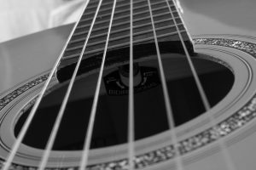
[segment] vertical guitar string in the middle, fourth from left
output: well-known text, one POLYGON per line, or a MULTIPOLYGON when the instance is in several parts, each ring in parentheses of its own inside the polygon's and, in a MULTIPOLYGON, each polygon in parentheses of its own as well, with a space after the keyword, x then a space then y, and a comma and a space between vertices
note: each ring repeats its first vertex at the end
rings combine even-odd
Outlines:
POLYGON ((130 72, 129 72, 129 118, 128 118, 128 157, 130 170, 134 169, 133 158, 135 156, 134 148, 134 88, 133 88, 133 0, 131 0, 130 16, 130 72))

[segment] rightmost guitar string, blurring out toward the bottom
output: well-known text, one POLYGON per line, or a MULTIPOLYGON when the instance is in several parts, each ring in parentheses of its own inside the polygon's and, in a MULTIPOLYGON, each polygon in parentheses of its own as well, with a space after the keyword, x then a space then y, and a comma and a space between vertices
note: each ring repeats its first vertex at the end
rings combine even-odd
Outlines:
MULTIPOLYGON (((175 2, 175 0, 172 0, 172 2, 173 2, 173 4, 174 4, 175 8, 177 8, 177 3, 175 2)), ((193 62, 192 62, 192 60, 191 60, 191 57, 190 57, 189 52, 188 52, 188 49, 187 49, 187 47, 186 47, 186 45, 185 45, 185 43, 184 43, 183 37, 182 37, 182 35, 181 35, 181 32, 180 32, 180 30, 179 30, 179 28, 178 28, 178 26, 177 26, 177 22, 176 22, 176 20, 174 19, 174 14, 173 14, 171 5, 170 5, 170 3, 168 3, 167 0, 166 0, 166 3, 167 3, 167 6, 168 6, 168 8, 169 8, 169 11, 170 11, 170 13, 171 13, 171 15, 172 15, 172 19, 173 19, 174 25, 176 26, 178 36, 179 36, 179 38, 180 38, 180 40, 181 40, 181 42, 182 42, 183 50, 184 50, 184 52, 185 52, 185 54, 186 54, 186 57, 187 57, 187 59, 188 59, 188 61, 189 61, 189 66, 190 66, 190 69, 192 70, 193 77, 195 78, 195 82, 196 82, 197 88, 199 89, 199 91, 200 91, 200 93, 201 93, 201 98, 204 100, 204 105, 205 105, 206 110, 209 111, 209 110, 210 110, 210 105, 209 105, 209 102, 208 102, 208 99, 207 99, 207 95, 205 94, 204 89, 203 89, 203 87, 201 86, 200 79, 199 79, 199 77, 198 77, 198 75, 197 75, 197 73, 196 73, 196 71, 195 71, 195 65, 193 64, 193 62)), ((181 14, 179 13, 178 10, 177 10, 177 13, 178 13, 179 17, 182 19, 181 14)), ((182 20, 182 21, 183 21, 183 20, 182 20)), ((186 28, 185 28, 185 29, 186 29, 186 28)), ((187 29, 186 29, 186 30, 187 30, 187 29)), ((213 117, 212 115, 209 115, 208 117, 209 117, 209 119, 210 119, 211 125, 212 125, 212 126, 215 126, 215 124, 217 124, 217 122, 214 120, 214 117, 213 117)), ((226 147, 225 147, 224 140, 223 140, 223 139, 219 139, 218 142, 219 142, 219 145, 220 145, 220 149, 222 150, 222 152, 223 152, 223 154, 224 154, 224 159, 225 159, 226 162, 227 162, 226 165, 227 165, 228 169, 230 169, 230 170, 236 170, 235 165, 234 165, 234 162, 231 160, 230 154, 229 154, 228 150, 227 150, 226 147)))

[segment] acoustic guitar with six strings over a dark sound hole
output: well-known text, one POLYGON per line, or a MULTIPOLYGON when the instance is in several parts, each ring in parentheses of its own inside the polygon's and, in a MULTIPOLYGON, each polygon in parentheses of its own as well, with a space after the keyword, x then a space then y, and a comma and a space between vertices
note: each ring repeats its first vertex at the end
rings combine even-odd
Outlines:
POLYGON ((90 0, 0 44, 1 168, 255 169, 256 39, 191 36, 181 12, 90 0))

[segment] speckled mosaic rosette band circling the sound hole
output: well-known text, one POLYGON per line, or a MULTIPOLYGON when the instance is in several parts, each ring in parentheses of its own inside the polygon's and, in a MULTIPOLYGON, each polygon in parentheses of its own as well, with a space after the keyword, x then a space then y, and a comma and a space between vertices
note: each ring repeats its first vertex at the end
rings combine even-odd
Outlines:
MULTIPOLYGON (((256 44, 253 42, 226 38, 196 38, 194 39, 194 42, 195 45, 204 44, 209 46, 235 48, 256 58, 256 44)), ((33 88, 38 84, 44 82, 47 77, 48 74, 42 77, 38 77, 32 82, 28 82, 20 88, 17 88, 13 92, 4 96, 2 99, 0 99, 0 111, 3 110, 5 106, 9 105, 9 103, 17 98, 20 94, 23 94, 30 88, 33 88)), ((177 155, 186 155, 193 150, 197 150, 203 146, 206 146, 207 144, 211 144, 212 142, 217 141, 218 139, 222 139, 230 133, 235 132, 237 129, 245 126, 248 122, 251 122, 256 116, 255 111, 256 95, 254 94, 253 98, 249 99, 246 105, 241 107, 239 111, 236 111, 234 114, 224 119, 222 122, 218 122, 218 124, 216 124, 215 126, 207 128, 203 132, 197 133, 194 136, 189 137, 188 139, 183 139, 179 141, 176 144, 179 153, 176 152, 173 144, 170 144, 158 150, 152 150, 148 153, 137 155, 134 159, 135 167, 148 167, 156 163, 171 160, 177 155)), ((3 165, 3 160, 0 161, 0 164, 3 165)), ((117 161, 104 162, 96 165, 90 165, 88 169, 127 169, 127 164, 127 159, 122 159, 117 161)), ((10 168, 36 169, 36 167, 20 166, 15 163, 12 164, 12 167, 10 168)), ((63 167, 61 169, 67 168, 78 169, 79 167, 63 167)), ((58 167, 58 169, 60 169, 60 167, 58 167)))

